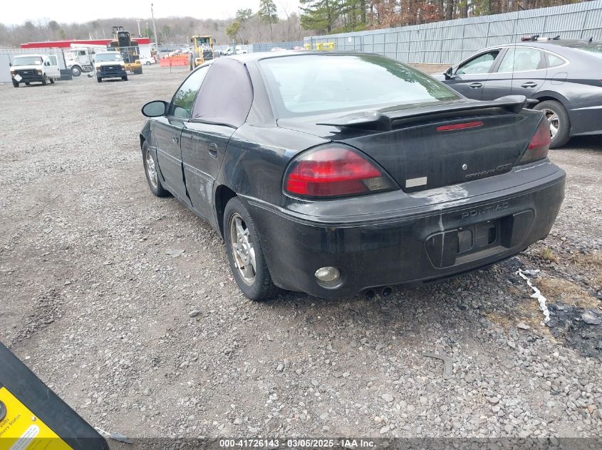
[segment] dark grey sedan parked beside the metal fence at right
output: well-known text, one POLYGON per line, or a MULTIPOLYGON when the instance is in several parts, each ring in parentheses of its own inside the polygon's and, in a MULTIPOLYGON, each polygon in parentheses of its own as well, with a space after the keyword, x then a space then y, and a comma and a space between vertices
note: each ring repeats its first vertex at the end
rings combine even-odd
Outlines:
POLYGON ((466 97, 525 95, 550 122, 551 148, 571 136, 602 134, 602 43, 524 41, 481 50, 432 75, 466 97))

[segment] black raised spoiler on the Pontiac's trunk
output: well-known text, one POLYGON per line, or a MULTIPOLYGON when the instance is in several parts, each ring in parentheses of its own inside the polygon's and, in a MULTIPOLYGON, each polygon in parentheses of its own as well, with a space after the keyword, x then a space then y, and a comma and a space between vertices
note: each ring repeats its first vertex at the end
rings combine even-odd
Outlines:
POLYGON ((343 117, 329 119, 326 122, 320 122, 316 125, 331 125, 341 128, 350 127, 359 129, 373 129, 378 131, 390 131, 393 129, 393 122, 400 119, 484 108, 502 108, 508 112, 514 112, 514 114, 517 114, 524 107, 534 105, 534 103, 537 103, 537 100, 527 99, 524 95, 506 95, 505 97, 499 97, 496 100, 490 100, 488 102, 467 100, 457 103, 445 103, 442 105, 431 105, 391 112, 356 112, 343 117))

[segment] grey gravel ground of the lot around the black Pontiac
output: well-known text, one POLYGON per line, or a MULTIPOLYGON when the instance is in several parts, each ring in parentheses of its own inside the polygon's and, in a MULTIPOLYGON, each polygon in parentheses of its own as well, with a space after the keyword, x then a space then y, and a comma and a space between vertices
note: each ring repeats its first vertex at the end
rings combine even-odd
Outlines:
POLYGON ((600 436, 601 138, 551 151, 566 200, 518 257, 390 299, 254 303, 217 233, 152 196, 142 172, 140 106, 184 75, 0 86, 0 340, 90 424, 132 437, 600 436), (541 270, 547 326, 519 267, 541 270), (449 379, 425 352, 450 358, 449 379))

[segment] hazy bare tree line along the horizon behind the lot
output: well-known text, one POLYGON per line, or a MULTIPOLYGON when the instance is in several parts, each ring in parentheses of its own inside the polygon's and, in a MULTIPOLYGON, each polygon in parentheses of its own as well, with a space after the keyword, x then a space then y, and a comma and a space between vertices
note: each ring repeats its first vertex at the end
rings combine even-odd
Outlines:
POLYGON ((299 11, 260 0, 259 9, 239 9, 225 20, 192 17, 110 18, 85 23, 56 20, 0 23, 0 47, 33 41, 111 38, 112 26, 122 25, 132 36, 159 43, 185 44, 194 35, 212 35, 218 44, 301 41, 303 36, 416 25, 453 18, 484 16, 521 9, 577 3, 579 0, 299 0, 299 11), (139 33, 140 30, 140 33, 139 33))

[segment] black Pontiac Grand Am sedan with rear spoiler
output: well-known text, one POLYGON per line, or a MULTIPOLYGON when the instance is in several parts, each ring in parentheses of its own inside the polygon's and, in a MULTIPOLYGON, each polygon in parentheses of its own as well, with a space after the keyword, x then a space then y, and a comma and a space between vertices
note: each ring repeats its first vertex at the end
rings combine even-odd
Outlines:
POLYGON ((222 235, 251 299, 388 296, 548 234, 565 174, 522 96, 468 100, 380 55, 218 58, 140 132, 152 193, 222 235))

